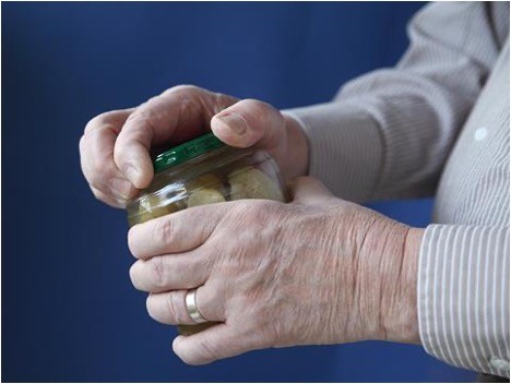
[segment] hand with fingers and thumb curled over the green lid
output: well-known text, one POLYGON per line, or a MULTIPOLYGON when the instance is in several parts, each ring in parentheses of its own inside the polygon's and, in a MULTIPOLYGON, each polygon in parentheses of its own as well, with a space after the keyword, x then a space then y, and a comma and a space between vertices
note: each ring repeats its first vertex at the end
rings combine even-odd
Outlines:
POLYGON ((210 129, 231 146, 266 149, 285 178, 307 171, 307 141, 293 119, 262 101, 183 85, 138 108, 92 119, 80 141, 83 173, 97 199, 123 207, 151 183, 152 148, 189 141, 210 129))

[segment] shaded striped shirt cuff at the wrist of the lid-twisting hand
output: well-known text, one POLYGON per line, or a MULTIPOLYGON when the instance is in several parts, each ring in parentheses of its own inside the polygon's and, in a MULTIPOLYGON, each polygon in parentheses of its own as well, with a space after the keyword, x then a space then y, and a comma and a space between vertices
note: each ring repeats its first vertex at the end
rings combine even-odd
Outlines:
POLYGON ((383 145, 372 118, 353 104, 329 103, 283 111, 309 142, 309 175, 337 196, 371 199, 381 175, 383 145))

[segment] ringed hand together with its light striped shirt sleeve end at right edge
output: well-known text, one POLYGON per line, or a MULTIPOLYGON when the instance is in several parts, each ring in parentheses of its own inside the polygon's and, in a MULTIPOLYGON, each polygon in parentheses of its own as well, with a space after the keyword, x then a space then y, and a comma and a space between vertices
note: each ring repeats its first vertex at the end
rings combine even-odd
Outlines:
POLYGON ((309 178, 292 193, 289 204, 212 204, 131 228, 130 274, 152 292, 151 316, 193 324, 183 296, 200 287, 200 312, 223 322, 175 339, 181 359, 382 339, 508 374, 492 365, 509 358, 507 227, 409 228, 309 178))

